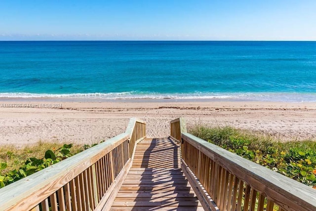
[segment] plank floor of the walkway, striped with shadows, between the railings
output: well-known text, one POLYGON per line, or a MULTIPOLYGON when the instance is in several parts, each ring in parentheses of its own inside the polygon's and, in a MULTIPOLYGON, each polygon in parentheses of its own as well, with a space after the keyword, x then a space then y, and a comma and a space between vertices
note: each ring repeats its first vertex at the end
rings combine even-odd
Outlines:
POLYGON ((171 138, 144 139, 136 146, 112 211, 202 211, 180 168, 180 146, 171 138))

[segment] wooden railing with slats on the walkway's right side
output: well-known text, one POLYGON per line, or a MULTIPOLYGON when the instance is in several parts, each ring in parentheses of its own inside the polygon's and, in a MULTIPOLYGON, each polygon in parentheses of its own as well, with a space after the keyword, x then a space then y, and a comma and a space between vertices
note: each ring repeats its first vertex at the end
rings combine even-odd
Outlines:
MULTIPOLYGON (((174 124, 173 121, 171 123, 174 124)), ((199 139, 172 124, 171 135, 176 134, 179 138, 181 133, 181 139, 178 139, 182 142, 181 168, 196 189, 204 209, 316 211, 316 190, 313 188, 199 139), (179 131, 174 131, 176 129, 179 131)))

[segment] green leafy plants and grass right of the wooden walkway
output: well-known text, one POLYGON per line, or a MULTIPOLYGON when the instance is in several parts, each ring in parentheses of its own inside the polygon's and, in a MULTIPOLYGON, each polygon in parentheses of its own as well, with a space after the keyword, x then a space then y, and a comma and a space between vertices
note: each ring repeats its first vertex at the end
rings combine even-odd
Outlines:
POLYGON ((234 127, 197 126, 190 133, 316 188, 316 141, 279 142, 234 127))

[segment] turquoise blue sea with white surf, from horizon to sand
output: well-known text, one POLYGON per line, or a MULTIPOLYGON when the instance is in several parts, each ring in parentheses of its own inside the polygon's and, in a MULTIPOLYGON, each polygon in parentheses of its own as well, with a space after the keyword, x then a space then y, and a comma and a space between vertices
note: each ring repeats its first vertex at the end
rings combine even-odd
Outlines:
POLYGON ((0 97, 316 102, 316 42, 0 42, 0 97))

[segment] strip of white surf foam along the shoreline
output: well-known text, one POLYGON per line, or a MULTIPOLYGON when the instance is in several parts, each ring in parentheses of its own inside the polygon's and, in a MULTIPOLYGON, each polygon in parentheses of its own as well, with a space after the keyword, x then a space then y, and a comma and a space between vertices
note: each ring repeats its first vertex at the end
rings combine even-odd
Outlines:
POLYGON ((0 98, 70 98, 70 99, 226 99, 276 102, 316 102, 316 93, 149 93, 149 92, 110 92, 110 93, 69 93, 39 94, 27 92, 0 93, 0 98))

